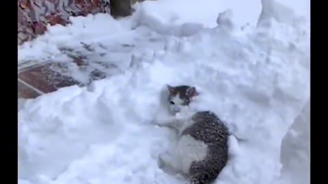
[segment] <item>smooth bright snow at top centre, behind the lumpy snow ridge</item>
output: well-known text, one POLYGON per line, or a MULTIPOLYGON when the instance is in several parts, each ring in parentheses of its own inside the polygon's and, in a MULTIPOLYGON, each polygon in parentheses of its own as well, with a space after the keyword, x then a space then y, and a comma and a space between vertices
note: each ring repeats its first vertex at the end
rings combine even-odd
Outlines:
POLYGON ((239 27, 246 23, 255 26, 262 7, 260 0, 161 0, 146 1, 143 6, 150 16, 158 18, 161 22, 174 25, 196 22, 202 23, 205 27, 216 27, 217 14, 228 9, 234 10, 235 23, 239 27), (245 10, 248 10, 246 16, 245 10))

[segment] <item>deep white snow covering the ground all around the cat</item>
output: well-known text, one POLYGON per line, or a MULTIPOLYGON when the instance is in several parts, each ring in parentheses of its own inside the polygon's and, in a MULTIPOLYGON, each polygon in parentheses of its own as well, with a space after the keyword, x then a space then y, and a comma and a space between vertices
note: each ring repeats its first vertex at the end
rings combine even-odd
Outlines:
POLYGON ((165 84, 195 85, 197 107, 247 139, 232 144, 215 183, 295 183, 304 172, 292 171, 295 153, 282 140, 293 122, 310 123, 299 117, 310 97, 310 28, 263 1, 262 13, 260 1, 145 1, 131 17, 72 18, 18 47, 20 61, 68 61, 59 48, 102 44, 104 62, 124 71, 20 103, 19 183, 184 183, 156 164, 173 138, 150 124, 165 84))

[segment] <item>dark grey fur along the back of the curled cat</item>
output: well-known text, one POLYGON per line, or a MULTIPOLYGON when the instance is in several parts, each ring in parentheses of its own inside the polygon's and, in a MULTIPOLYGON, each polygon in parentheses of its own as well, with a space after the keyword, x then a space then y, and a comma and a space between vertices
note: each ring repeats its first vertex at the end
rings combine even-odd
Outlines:
POLYGON ((189 165, 191 183, 214 181, 228 161, 228 127, 210 111, 196 112, 191 117, 193 123, 184 129, 183 136, 191 136, 206 145, 206 156, 194 160, 189 165))

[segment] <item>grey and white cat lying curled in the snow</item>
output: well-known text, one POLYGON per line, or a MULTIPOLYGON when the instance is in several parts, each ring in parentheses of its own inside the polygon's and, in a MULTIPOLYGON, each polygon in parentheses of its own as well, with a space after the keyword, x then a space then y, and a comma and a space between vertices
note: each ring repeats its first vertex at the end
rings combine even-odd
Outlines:
POLYGON ((178 132, 175 148, 159 155, 159 168, 171 168, 189 177, 191 184, 215 181, 228 161, 228 127, 210 111, 189 109, 199 93, 195 87, 167 85, 170 116, 154 123, 178 132))

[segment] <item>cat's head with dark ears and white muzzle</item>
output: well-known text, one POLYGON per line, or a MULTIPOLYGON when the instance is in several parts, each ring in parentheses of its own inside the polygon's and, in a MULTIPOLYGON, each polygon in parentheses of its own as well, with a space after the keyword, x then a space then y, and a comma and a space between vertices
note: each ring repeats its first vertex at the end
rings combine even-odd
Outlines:
POLYGON ((169 91, 169 111, 177 113, 187 108, 195 96, 199 95, 195 87, 181 85, 172 87, 167 85, 169 91))

